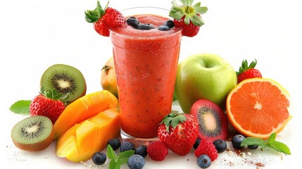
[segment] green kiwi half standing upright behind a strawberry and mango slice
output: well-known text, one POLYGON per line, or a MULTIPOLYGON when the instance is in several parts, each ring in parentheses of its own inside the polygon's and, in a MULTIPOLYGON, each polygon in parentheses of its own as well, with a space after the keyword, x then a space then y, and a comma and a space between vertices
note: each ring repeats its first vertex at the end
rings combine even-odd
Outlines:
POLYGON ((84 76, 80 70, 71 65, 51 65, 44 71, 40 87, 44 87, 45 90, 56 89, 57 92, 63 94, 69 93, 68 98, 64 100, 66 104, 70 104, 86 94, 84 76))

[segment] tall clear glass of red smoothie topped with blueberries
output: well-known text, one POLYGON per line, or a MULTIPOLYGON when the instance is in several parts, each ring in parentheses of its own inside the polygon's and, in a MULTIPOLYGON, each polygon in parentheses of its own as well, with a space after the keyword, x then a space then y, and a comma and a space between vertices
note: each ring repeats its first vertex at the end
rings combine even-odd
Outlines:
POLYGON ((148 143, 156 140, 159 123, 171 112, 182 31, 162 26, 172 20, 169 11, 162 8, 138 7, 121 12, 126 19, 134 19, 130 25, 111 29, 110 35, 121 137, 148 143))

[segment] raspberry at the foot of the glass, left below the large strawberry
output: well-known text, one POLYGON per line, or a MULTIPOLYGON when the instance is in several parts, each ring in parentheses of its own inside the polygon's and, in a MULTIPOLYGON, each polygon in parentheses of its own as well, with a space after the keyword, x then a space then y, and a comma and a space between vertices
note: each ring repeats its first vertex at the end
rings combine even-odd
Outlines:
POLYGON ((168 147, 163 142, 152 142, 147 147, 148 156, 153 161, 163 161, 168 155, 168 147))

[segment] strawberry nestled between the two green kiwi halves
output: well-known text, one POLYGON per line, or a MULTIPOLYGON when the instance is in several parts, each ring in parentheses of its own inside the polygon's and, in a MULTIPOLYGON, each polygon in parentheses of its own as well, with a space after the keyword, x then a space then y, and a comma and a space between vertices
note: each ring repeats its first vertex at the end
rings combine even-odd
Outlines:
POLYGON ((30 115, 44 115, 54 124, 65 109, 62 100, 67 97, 68 94, 58 94, 56 89, 51 91, 42 87, 40 94, 30 102, 30 115))

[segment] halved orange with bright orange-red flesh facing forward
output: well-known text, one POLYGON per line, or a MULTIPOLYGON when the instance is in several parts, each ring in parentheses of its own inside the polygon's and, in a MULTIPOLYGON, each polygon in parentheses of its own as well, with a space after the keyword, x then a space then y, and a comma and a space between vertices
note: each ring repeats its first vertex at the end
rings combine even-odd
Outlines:
POLYGON ((227 118, 246 137, 267 139, 291 119, 289 93, 279 83, 266 78, 247 79, 227 96, 227 118))

